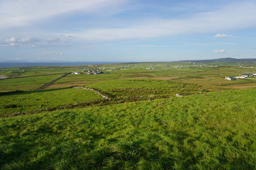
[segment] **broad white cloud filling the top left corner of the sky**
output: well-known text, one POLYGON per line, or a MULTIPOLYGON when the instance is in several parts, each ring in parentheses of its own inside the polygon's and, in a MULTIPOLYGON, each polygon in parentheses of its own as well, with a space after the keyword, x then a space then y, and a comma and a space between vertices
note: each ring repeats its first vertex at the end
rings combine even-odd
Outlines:
POLYGON ((0 29, 19 27, 68 12, 93 12, 119 6, 127 0, 1 0, 0 29))

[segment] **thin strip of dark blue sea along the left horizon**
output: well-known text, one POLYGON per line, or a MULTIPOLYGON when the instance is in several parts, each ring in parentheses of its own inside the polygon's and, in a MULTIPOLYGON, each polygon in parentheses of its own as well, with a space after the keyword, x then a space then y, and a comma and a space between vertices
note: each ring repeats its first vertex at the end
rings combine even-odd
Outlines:
POLYGON ((0 62, 0 68, 6 67, 32 67, 32 66, 82 66, 82 65, 100 65, 115 62, 0 62))

